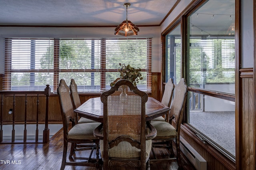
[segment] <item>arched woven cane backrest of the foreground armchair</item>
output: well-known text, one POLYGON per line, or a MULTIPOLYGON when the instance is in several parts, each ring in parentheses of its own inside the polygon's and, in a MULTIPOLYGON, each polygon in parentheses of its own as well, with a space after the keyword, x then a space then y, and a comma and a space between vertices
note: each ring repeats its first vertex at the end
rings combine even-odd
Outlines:
POLYGON ((116 139, 122 137, 132 138, 136 147, 139 146, 141 150, 140 159, 146 160, 145 103, 147 100, 148 95, 138 90, 128 80, 119 80, 110 90, 102 93, 104 162, 108 162, 109 146, 121 142, 122 140, 116 139))

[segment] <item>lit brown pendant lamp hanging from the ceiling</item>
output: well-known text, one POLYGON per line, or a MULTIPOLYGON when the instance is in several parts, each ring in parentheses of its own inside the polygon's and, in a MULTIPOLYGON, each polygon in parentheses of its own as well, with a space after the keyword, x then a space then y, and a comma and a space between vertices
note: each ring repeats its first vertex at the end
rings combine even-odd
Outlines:
POLYGON ((140 29, 136 27, 130 20, 128 20, 127 16, 127 10, 128 7, 131 6, 130 3, 124 3, 124 6, 126 7, 126 20, 122 21, 118 27, 115 29, 115 35, 123 35, 123 36, 129 36, 129 35, 138 35, 138 31, 140 29))

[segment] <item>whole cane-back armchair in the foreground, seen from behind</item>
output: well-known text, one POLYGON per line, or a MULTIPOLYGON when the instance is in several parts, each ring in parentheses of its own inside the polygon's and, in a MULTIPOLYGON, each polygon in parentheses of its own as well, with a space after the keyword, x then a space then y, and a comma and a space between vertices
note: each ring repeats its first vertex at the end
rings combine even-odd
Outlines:
POLYGON ((110 90, 102 93, 103 125, 94 131, 100 140, 100 152, 103 158, 103 168, 111 166, 139 167, 149 166, 148 158, 152 138, 156 129, 147 123, 146 128, 145 103, 148 95, 138 90, 132 82, 119 80, 110 90), (103 126, 103 135, 100 129, 103 126), (102 140, 103 139, 103 140, 102 140))

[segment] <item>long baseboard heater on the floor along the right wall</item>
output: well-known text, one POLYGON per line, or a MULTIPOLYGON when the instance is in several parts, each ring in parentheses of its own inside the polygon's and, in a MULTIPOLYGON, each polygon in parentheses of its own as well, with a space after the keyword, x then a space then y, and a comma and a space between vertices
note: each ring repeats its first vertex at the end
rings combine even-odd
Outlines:
POLYGON ((207 162, 196 150, 191 147, 184 138, 180 137, 180 150, 197 170, 206 170, 207 162))

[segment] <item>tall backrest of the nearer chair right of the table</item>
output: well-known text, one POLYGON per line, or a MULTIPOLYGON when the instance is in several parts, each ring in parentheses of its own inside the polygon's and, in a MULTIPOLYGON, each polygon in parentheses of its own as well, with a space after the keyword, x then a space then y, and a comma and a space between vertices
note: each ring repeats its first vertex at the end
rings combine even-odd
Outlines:
POLYGON ((174 116, 175 118, 177 132, 180 131, 180 124, 186 104, 187 94, 188 86, 186 85, 186 80, 182 78, 180 79, 180 82, 175 86, 174 98, 172 100, 172 106, 170 110, 170 116, 174 116))

